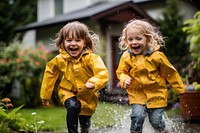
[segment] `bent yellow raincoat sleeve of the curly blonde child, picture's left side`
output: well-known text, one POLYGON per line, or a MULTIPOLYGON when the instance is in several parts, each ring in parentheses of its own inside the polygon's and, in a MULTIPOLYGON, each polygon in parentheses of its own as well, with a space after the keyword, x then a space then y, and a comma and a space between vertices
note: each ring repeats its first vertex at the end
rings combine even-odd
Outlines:
POLYGON ((127 58, 128 58, 127 54, 124 53, 122 55, 121 59, 120 59, 119 66, 118 66, 117 71, 116 71, 117 78, 119 79, 120 86, 122 88, 124 88, 125 79, 127 79, 127 78, 130 79, 131 78, 129 76, 129 69, 130 68, 129 68, 128 64, 126 63, 126 61, 125 61, 127 58))

